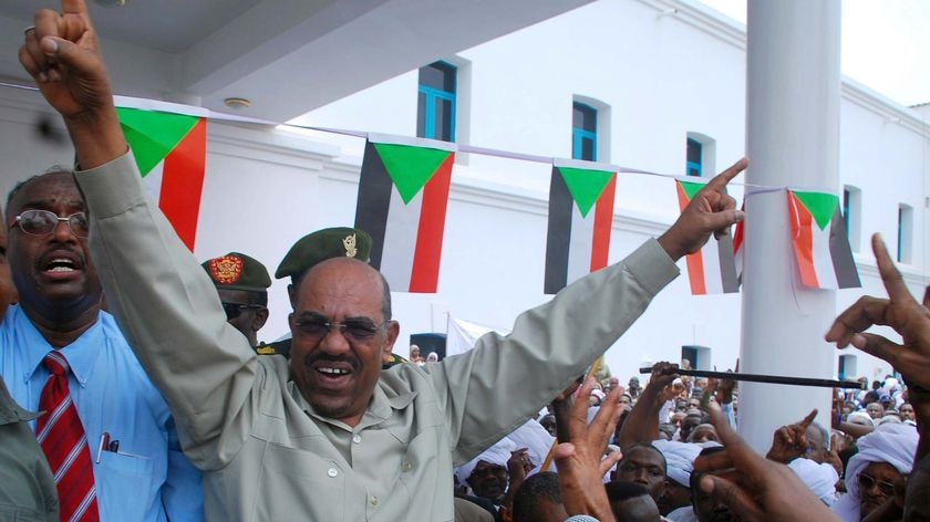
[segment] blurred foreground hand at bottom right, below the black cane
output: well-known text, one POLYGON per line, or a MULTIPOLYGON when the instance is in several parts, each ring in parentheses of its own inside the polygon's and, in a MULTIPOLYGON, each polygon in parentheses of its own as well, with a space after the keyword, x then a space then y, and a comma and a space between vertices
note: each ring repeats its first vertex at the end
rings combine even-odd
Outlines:
POLYGON ((728 505, 740 520, 839 520, 786 466, 756 455, 715 404, 711 405, 711 422, 726 451, 698 458, 694 472, 706 473, 700 480, 701 490, 728 505))

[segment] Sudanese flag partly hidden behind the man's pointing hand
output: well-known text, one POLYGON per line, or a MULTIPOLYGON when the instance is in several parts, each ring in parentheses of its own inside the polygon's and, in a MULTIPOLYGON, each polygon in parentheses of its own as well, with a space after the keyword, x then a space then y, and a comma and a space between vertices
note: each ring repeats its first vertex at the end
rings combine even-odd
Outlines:
MULTIPOLYGON (((675 179, 679 208, 684 211, 691 198, 704 187, 702 182, 675 179)), ((742 234, 741 234, 742 238, 742 234)), ((742 241, 741 241, 742 242, 742 241)), ((720 239, 711 234, 704 247, 685 257, 692 295, 734 293, 740 291, 736 261, 730 234, 720 239)))

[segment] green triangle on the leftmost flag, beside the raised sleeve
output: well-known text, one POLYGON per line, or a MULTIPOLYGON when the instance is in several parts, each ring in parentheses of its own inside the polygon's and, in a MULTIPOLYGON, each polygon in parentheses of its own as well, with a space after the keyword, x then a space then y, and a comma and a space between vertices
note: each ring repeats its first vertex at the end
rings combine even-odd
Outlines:
POLYGON ((116 115, 143 177, 174 150, 200 119, 197 116, 128 107, 116 107, 116 115))

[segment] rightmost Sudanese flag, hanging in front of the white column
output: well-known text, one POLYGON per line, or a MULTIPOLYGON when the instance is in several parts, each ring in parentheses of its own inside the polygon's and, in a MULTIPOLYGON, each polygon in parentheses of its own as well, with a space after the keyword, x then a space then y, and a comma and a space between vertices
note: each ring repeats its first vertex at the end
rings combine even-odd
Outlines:
POLYGON ((802 284, 814 289, 861 286, 839 198, 790 189, 787 195, 792 246, 802 284))

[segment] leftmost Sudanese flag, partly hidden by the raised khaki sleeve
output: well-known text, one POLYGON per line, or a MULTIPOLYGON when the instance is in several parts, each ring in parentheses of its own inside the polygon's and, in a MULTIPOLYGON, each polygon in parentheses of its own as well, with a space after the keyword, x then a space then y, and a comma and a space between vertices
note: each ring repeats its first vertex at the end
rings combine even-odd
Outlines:
MULTIPOLYGON (((117 103, 120 101, 117 98, 117 103)), ((145 103, 145 108, 117 107, 120 125, 143 182, 177 236, 193 252, 204 188, 207 119, 168 112, 176 107, 174 104, 145 103)))

